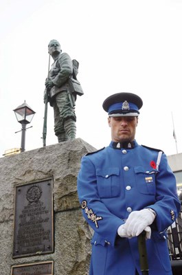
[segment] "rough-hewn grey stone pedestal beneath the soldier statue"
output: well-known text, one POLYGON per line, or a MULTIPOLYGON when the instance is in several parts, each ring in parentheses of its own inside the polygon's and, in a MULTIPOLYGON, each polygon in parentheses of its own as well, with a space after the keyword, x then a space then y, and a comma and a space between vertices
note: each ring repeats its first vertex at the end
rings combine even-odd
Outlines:
POLYGON ((95 151, 80 138, 0 159, 0 270, 54 261, 54 275, 87 275, 91 255, 91 230, 82 217, 77 195, 81 157, 95 151), (54 252, 12 258, 14 233, 14 190, 16 186, 53 181, 54 252))

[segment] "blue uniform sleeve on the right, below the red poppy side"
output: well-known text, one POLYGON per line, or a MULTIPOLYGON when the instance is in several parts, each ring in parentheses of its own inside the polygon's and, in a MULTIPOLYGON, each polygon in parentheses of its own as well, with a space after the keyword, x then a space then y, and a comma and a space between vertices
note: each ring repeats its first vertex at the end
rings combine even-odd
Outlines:
POLYGON ((181 209, 176 179, 165 154, 162 155, 159 173, 156 175, 156 203, 148 208, 157 213, 155 221, 159 232, 166 230, 177 219, 181 209))

